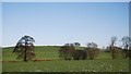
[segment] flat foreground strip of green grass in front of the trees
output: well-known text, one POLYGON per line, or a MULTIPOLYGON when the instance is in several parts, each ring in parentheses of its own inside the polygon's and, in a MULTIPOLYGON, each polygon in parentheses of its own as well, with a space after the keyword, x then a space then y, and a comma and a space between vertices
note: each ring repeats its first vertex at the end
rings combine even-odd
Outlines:
POLYGON ((16 62, 4 63, 3 72, 128 72, 127 63, 127 60, 16 62))

